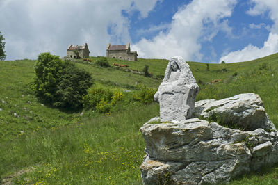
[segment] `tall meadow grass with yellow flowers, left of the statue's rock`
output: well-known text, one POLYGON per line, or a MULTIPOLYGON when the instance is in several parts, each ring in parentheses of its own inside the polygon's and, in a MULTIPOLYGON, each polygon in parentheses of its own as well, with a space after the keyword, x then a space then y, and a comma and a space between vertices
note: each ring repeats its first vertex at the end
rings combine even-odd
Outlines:
POLYGON ((0 176, 25 168, 15 184, 140 184, 145 143, 139 129, 156 115, 152 104, 22 135, 1 145, 0 176))

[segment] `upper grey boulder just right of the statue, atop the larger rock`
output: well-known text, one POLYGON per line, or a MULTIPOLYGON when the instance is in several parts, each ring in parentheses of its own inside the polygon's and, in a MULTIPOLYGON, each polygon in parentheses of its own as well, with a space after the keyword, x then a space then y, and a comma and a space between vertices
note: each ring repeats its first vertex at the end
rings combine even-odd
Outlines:
POLYGON ((254 93, 240 94, 220 100, 201 100, 195 103, 195 116, 197 118, 214 117, 222 124, 236 124, 246 130, 275 129, 268 114, 265 113, 261 97, 254 93))

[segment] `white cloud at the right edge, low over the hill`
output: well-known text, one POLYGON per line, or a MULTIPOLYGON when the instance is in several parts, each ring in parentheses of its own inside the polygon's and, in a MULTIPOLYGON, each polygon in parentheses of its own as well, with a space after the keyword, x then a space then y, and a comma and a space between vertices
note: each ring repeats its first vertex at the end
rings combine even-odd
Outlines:
MULTIPOLYGON (((249 15, 265 15, 265 13, 274 22, 271 29, 266 26, 265 28, 270 30, 268 40, 264 42, 263 47, 259 48, 253 45, 247 45, 247 47, 232 51, 227 55, 223 55, 219 62, 225 61, 227 63, 250 61, 255 58, 261 58, 278 52, 278 1, 277 0, 250 0, 254 7, 247 11, 249 15)), ((251 24, 250 28, 261 28, 265 26, 263 24, 251 24)))

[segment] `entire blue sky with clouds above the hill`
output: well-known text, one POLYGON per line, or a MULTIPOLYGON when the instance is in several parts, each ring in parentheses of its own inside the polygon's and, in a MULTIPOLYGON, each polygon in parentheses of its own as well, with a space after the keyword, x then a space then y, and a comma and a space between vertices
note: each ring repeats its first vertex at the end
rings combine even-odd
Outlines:
POLYGON ((0 0, 0 32, 6 60, 130 42, 138 58, 236 63, 278 52, 278 0, 0 0))

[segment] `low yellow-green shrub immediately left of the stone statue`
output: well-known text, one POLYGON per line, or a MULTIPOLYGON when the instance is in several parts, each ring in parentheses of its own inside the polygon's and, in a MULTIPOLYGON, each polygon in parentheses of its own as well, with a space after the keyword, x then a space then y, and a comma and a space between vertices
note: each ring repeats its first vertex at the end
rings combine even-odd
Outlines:
POLYGON ((133 101, 141 102, 142 104, 149 104, 154 102, 154 94, 156 89, 147 88, 146 86, 139 86, 140 90, 132 96, 133 101))

